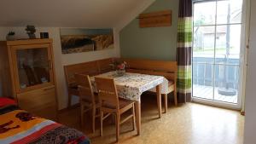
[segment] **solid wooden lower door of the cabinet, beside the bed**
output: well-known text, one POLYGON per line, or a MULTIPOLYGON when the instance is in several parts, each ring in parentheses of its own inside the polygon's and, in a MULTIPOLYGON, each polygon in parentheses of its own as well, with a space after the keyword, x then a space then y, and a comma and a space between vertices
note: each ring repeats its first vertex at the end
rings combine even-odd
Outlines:
POLYGON ((54 86, 18 94, 17 98, 21 109, 39 117, 55 120, 56 102, 54 86))

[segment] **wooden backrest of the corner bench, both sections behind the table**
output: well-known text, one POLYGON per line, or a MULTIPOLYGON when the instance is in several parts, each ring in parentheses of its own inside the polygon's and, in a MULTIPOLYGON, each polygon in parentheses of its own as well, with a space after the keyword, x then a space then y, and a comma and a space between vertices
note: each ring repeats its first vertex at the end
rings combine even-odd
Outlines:
MULTIPOLYGON (((64 66, 67 86, 73 86, 76 83, 75 74, 86 74, 94 76, 104 72, 113 71, 110 66, 115 58, 103 60, 94 60, 79 64, 64 66)), ((177 80, 177 62, 165 60, 141 60, 141 59, 121 59, 127 62, 127 72, 137 72, 143 74, 160 75, 176 83, 177 80)))

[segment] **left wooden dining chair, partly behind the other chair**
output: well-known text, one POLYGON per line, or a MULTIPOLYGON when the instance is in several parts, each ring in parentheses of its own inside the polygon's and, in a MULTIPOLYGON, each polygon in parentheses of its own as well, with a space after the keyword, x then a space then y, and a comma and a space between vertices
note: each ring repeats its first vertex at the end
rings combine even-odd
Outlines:
POLYGON ((79 87, 79 102, 81 112, 81 125, 84 126, 84 112, 92 110, 92 131, 95 133, 95 120, 100 117, 100 112, 96 115, 96 110, 99 110, 100 103, 98 97, 94 94, 90 84, 88 75, 76 74, 76 83, 79 87))

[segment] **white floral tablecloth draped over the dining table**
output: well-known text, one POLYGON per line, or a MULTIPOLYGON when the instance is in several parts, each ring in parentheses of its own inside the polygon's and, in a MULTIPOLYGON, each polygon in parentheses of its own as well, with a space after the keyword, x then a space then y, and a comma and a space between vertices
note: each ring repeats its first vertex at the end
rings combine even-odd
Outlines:
MULTIPOLYGON (((155 91, 155 87, 161 85, 161 93, 166 94, 168 91, 168 80, 162 76, 125 72, 123 76, 118 76, 116 72, 107 72, 99 77, 113 78, 116 84, 119 97, 132 101, 140 101, 144 91, 155 91)), ((96 91, 94 77, 91 77, 91 84, 96 91)))

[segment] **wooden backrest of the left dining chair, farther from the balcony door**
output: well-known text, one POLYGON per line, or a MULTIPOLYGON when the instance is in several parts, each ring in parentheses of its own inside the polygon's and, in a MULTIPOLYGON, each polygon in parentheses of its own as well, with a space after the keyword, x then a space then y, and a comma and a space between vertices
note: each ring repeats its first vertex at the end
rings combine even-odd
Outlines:
POLYGON ((80 101, 91 101, 95 105, 96 97, 93 93, 89 75, 75 74, 75 79, 79 87, 80 101))

